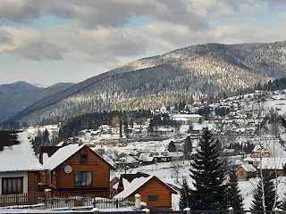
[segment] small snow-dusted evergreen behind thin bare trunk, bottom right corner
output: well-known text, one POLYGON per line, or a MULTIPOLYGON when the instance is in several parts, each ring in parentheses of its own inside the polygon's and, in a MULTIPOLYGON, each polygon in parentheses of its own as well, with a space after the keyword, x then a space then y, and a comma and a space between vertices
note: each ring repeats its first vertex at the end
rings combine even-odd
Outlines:
MULTIPOLYGON (((274 199, 278 199, 278 196, 275 195, 275 186, 273 185, 273 181, 270 180, 270 177, 264 177, 263 183, 265 187, 265 209, 273 210, 274 199)), ((278 202, 277 200, 275 207, 280 206, 281 202, 278 202)), ((263 210, 261 182, 258 183, 257 189, 253 195, 251 210, 263 210)))

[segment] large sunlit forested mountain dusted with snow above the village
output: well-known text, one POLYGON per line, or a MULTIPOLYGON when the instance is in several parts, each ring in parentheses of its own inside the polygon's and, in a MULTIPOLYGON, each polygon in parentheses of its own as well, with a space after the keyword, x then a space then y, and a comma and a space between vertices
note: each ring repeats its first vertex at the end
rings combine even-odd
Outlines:
POLYGON ((91 111, 156 108, 285 77, 286 41, 192 45, 88 78, 47 96, 11 120, 34 124, 91 111))

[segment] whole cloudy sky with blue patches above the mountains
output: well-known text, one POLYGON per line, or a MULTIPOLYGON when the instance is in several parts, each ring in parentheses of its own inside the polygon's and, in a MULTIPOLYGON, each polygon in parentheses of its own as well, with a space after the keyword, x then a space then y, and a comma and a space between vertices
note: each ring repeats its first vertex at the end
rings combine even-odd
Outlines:
POLYGON ((78 83, 189 45, 286 40, 286 0, 0 0, 0 84, 78 83))

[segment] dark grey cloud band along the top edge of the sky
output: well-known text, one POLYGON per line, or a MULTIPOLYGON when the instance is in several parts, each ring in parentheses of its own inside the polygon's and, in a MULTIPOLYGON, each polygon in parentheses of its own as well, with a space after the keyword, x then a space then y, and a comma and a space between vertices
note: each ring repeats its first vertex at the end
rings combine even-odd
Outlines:
POLYGON ((22 0, 20 3, 2 0, 0 21, 25 22, 49 14, 81 28, 118 28, 130 23, 133 18, 148 16, 157 21, 206 29, 206 17, 194 10, 191 3, 186 0, 22 0))

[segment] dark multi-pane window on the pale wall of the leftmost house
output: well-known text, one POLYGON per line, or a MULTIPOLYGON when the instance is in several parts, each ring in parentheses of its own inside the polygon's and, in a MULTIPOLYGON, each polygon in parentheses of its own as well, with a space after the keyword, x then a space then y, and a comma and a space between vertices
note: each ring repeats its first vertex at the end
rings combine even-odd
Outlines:
POLYGON ((23 177, 3 177, 2 193, 23 193, 23 177))

